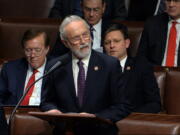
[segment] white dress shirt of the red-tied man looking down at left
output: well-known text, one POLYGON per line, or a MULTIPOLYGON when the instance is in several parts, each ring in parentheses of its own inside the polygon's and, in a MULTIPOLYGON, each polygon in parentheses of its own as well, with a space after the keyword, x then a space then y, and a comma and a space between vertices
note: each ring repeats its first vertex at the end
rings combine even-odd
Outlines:
MULTIPOLYGON (((45 65, 46 65, 46 60, 45 60, 44 64, 40 68, 37 69, 38 72, 35 74, 35 80, 37 80, 38 78, 40 78, 44 75, 45 65)), ((29 65, 28 70, 27 70, 27 75, 26 75, 24 91, 26 89, 26 85, 29 81, 29 78, 31 77, 32 74, 33 74, 33 69, 29 65)), ((33 93, 29 99, 29 105, 33 105, 33 106, 39 106, 40 105, 41 87, 42 87, 42 79, 39 80, 37 83, 35 83, 33 93)))

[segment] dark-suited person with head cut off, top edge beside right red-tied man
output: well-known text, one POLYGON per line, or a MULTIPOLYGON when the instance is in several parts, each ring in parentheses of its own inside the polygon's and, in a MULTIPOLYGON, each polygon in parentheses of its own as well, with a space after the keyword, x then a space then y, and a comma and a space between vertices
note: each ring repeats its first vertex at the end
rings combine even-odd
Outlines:
POLYGON ((127 20, 146 21, 149 17, 164 11, 164 0, 130 0, 127 20))

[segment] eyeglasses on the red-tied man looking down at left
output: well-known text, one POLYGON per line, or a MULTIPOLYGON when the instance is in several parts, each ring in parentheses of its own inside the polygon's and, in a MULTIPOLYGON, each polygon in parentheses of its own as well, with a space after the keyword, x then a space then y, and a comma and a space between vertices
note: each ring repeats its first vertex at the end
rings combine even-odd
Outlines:
POLYGON ((32 53, 34 53, 35 56, 40 56, 43 52, 42 48, 25 48, 24 49, 26 56, 31 56, 32 53))

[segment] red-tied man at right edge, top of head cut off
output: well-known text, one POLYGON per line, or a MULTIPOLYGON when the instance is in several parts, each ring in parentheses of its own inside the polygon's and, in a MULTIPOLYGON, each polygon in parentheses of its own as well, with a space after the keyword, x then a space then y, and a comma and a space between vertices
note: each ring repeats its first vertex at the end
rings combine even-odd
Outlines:
POLYGON ((180 0, 165 0, 166 13, 147 20, 138 55, 154 65, 180 66, 180 0))

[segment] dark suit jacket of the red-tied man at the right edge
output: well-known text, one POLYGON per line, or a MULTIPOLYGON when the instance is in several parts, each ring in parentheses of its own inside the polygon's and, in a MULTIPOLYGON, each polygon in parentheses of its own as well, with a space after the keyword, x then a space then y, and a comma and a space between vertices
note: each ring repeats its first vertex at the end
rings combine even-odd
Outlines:
MULTIPOLYGON (((137 54, 145 56, 153 65, 162 64, 166 49, 168 21, 169 16, 164 13, 150 18, 145 23, 137 54)), ((179 66, 179 51, 177 63, 179 66)))

